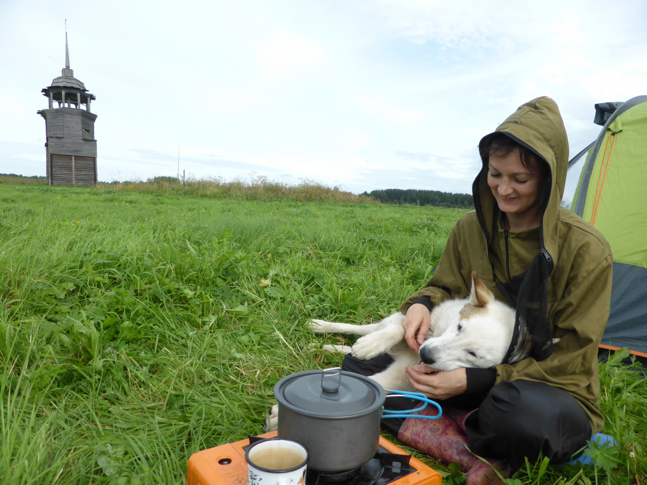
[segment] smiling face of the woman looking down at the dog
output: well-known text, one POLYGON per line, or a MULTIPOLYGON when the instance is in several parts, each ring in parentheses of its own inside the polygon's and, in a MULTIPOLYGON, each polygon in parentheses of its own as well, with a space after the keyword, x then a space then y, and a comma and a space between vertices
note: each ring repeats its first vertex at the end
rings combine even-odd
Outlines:
POLYGON ((501 212, 517 217, 536 212, 542 180, 535 160, 524 167, 516 150, 506 156, 490 155, 487 184, 501 212))

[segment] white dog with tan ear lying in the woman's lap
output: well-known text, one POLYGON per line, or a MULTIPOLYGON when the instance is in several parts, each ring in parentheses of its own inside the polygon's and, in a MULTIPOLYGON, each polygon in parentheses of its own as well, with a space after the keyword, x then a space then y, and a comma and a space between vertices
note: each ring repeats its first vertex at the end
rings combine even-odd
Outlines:
MULTIPOLYGON (((514 308, 494 299, 483 281, 472 272, 472 291, 465 299, 444 301, 430 315, 430 329, 418 353, 404 340, 404 315, 396 312, 370 325, 351 325, 313 319, 307 327, 318 334, 356 334, 363 337, 353 347, 324 345, 333 352, 352 353, 360 360, 387 353, 394 361, 378 374, 370 376, 384 389, 413 391, 404 372, 420 361, 437 371, 452 371, 458 367, 487 368, 505 358, 514 330, 514 308)), ((314 344, 316 345, 316 344, 314 344)), ((268 429, 276 429, 278 406, 266 419, 268 429)))

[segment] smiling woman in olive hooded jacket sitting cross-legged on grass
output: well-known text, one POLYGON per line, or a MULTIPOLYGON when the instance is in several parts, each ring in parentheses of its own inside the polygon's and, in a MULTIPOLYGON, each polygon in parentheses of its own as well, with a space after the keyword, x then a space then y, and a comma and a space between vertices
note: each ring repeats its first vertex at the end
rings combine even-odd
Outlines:
MULTIPOLYGON (((556 103, 543 97, 521 105, 481 140, 479 151, 476 211, 455 224, 432 279, 400 311, 406 341, 418 350, 430 310, 467 296, 474 270, 516 308, 510 349, 491 369, 407 369, 411 385, 440 400, 444 415, 390 426, 400 441, 461 464, 468 485, 496 477, 466 447, 510 473, 540 454, 553 464, 568 462, 602 429, 597 349, 611 296, 608 242, 560 207, 568 142, 556 103), (560 339, 554 346, 553 338, 560 339)), ((388 363, 388 356, 347 356, 344 369, 370 375, 388 363)))

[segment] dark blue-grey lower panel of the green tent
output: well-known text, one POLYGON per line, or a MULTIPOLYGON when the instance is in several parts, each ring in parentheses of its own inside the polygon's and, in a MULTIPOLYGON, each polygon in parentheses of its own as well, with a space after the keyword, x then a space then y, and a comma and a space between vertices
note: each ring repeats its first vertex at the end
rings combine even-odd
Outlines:
POLYGON ((647 268, 613 263, 611 310, 602 343, 647 354, 647 268))

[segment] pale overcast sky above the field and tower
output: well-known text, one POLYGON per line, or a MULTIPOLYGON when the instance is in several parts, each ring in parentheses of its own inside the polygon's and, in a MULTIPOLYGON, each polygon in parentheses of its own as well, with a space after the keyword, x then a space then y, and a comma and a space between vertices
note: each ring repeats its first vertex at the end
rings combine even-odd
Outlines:
POLYGON ((0 0, 0 172, 45 175, 40 93, 96 95, 99 180, 311 178, 469 192, 477 143, 558 103, 571 156, 593 104, 647 94, 647 2, 0 0))

